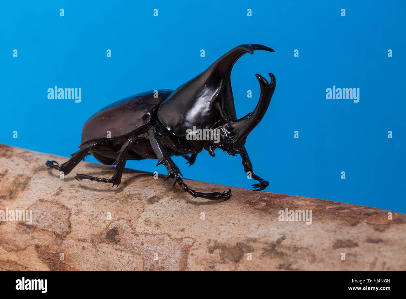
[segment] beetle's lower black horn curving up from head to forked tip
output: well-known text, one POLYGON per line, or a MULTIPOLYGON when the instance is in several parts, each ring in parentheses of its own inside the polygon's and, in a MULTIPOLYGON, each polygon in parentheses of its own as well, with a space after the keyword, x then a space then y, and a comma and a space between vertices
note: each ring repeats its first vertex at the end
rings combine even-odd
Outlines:
POLYGON ((261 87, 261 94, 259 96, 259 101, 255 110, 248 113, 243 118, 240 118, 232 122, 232 131, 235 132, 235 141, 244 141, 248 134, 259 124, 268 109, 269 103, 272 98, 276 86, 276 79, 272 73, 269 73, 271 77, 271 82, 268 83, 266 79, 255 74, 258 79, 259 85, 261 87))

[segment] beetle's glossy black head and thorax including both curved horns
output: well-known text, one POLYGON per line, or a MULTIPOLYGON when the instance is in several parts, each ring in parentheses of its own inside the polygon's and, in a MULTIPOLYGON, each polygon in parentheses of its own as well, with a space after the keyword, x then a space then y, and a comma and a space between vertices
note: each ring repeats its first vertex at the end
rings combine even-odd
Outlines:
MULTIPOLYGON (((274 52, 271 48, 259 44, 243 44, 231 49, 207 70, 179 86, 168 96, 158 108, 158 120, 168 132, 181 138, 193 127, 216 129, 227 124, 228 128, 222 136, 225 137, 224 141, 233 146, 243 144, 244 137, 257 125, 268 108, 274 89, 273 75, 271 83, 257 75, 261 85, 258 107, 250 113, 252 116, 237 120, 231 88, 231 70, 242 55, 253 54, 256 50, 274 52)), ((225 146, 224 142, 220 143, 225 146)), ((219 144, 212 145, 220 147, 219 144)))

